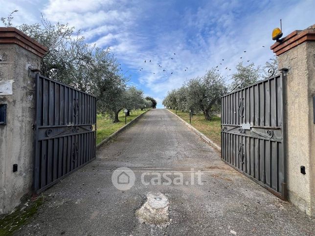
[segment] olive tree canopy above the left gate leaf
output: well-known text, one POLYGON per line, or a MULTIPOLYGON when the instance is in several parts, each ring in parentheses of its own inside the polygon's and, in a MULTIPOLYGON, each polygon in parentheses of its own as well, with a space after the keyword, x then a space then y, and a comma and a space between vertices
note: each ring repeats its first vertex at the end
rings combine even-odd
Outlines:
MULTIPOLYGON (((16 12, 0 19, 4 26, 13 26, 16 12)), ((119 121, 118 113, 123 108, 156 106, 153 98, 144 99, 142 90, 127 86, 129 78, 121 72, 120 64, 109 48, 86 43, 80 30, 76 31, 68 24, 53 24, 43 16, 40 23, 15 27, 48 48, 41 60, 42 75, 95 95, 97 112, 109 115, 113 122, 119 121)))

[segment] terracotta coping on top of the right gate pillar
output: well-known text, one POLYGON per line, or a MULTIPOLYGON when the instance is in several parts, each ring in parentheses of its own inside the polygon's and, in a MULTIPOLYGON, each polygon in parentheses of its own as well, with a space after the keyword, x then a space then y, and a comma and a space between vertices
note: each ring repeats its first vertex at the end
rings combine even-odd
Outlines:
POLYGON ((288 36, 281 39, 281 42, 276 42, 270 46, 270 49, 279 56, 293 47, 306 41, 315 41, 315 24, 305 30, 295 30, 288 36))

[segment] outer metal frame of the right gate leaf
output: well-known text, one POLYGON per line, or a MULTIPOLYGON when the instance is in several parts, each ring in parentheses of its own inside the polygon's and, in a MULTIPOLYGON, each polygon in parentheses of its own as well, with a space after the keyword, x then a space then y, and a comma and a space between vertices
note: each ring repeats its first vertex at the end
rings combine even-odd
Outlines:
MULTIPOLYGON (((264 187, 265 189, 267 189, 270 193, 273 193, 274 195, 276 195, 277 197, 281 198, 282 200, 285 200, 287 201, 288 200, 288 193, 287 193, 287 156, 286 156, 286 143, 285 143, 285 109, 284 109, 284 101, 285 101, 285 87, 283 86, 284 83, 283 83, 283 80, 284 79, 287 79, 287 77, 284 75, 284 71, 287 71, 286 68, 283 68, 283 69, 279 69, 280 71, 280 74, 279 75, 275 75, 273 76, 273 74, 265 79, 265 80, 261 80, 261 81, 258 81, 257 83, 255 84, 252 84, 252 85, 249 85, 249 86, 244 86, 244 83, 242 84, 238 84, 235 88, 233 88, 233 90, 231 90, 229 93, 221 96, 221 160, 223 162, 225 162, 225 164, 229 165, 230 167, 232 167, 233 169, 235 169, 236 171, 244 174, 245 176, 247 176, 249 179, 253 180, 254 182, 256 182, 257 184, 259 184, 260 186, 264 187), (240 90, 243 90, 243 89, 246 89, 246 88, 249 88, 251 86, 255 86, 255 85, 258 85, 258 84, 261 84, 261 83, 264 83, 264 82, 267 82, 271 79, 275 79, 276 77, 280 76, 280 82, 281 82, 281 86, 282 86, 282 94, 281 94, 281 97, 282 97, 282 125, 281 125, 281 129, 282 129, 282 142, 281 142, 281 146, 282 146, 282 149, 283 149, 283 170, 284 170, 284 177, 283 177, 283 182, 281 183, 281 186, 282 186, 282 192, 279 193, 279 192, 276 192, 275 190, 273 190, 271 187, 265 185, 265 184, 262 184, 260 183, 258 180, 256 180, 255 178, 253 178, 252 176, 250 176, 248 173, 238 169, 237 167, 231 165, 230 163, 228 163, 227 161, 225 161, 225 159, 223 158, 223 142, 222 142, 222 133, 223 133, 223 129, 222 129, 222 115, 223 115, 223 103, 222 103, 222 99, 227 96, 227 95, 231 95, 235 92, 238 92, 240 90), (239 88, 239 89, 236 89, 236 88, 239 88), (234 89, 236 89, 234 91, 234 89)), ((265 171, 265 170, 264 170, 265 171)))

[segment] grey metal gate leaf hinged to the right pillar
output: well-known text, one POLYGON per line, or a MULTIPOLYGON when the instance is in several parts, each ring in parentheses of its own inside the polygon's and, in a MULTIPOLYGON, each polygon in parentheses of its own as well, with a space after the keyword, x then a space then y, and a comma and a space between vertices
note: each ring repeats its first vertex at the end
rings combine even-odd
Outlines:
POLYGON ((226 94, 221 100, 221 158, 286 198, 282 75, 226 94))

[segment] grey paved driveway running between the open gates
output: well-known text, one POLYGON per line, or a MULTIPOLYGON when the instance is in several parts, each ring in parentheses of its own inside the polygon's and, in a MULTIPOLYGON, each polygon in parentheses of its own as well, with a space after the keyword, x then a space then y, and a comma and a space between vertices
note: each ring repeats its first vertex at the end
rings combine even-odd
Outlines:
MULTIPOLYGON (((150 176, 149 176, 150 177, 150 176)), ((172 176, 172 180, 174 180, 172 176)), ((247 177, 164 109, 147 112, 97 153, 97 160, 44 193, 46 201, 17 234, 32 235, 308 235, 315 222, 247 177), (112 171, 129 167, 135 185, 112 185, 112 171), (143 185, 144 171, 202 170, 202 184, 143 185), (166 225, 141 223, 135 211, 148 193, 170 203, 166 225)))

